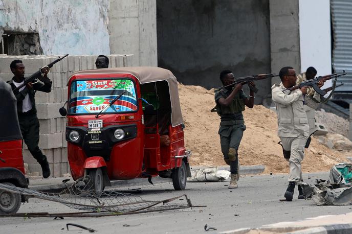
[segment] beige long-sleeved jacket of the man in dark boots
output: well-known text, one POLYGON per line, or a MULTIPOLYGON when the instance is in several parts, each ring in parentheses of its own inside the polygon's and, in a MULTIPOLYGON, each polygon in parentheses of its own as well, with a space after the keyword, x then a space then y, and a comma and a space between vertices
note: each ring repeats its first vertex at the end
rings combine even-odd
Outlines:
MULTIPOLYGON (((309 136, 310 127, 305 112, 305 105, 314 107, 315 102, 303 97, 299 89, 283 91, 286 89, 282 82, 271 87, 272 99, 276 105, 278 118, 278 135, 282 137, 297 137, 298 134, 309 136)), ((314 95, 316 98, 316 95, 314 95)))

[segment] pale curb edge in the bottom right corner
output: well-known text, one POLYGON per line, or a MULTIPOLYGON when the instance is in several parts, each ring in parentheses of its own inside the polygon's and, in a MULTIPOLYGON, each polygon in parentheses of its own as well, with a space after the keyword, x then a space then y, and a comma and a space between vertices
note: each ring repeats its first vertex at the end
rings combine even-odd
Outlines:
MULTIPOLYGON (((276 227, 276 228, 239 228, 230 231, 223 231, 220 234, 246 234, 250 231, 275 232, 287 234, 349 234, 352 233, 352 223, 350 224, 333 224, 317 227, 276 227)), ((255 233, 255 232, 254 232, 255 233)))

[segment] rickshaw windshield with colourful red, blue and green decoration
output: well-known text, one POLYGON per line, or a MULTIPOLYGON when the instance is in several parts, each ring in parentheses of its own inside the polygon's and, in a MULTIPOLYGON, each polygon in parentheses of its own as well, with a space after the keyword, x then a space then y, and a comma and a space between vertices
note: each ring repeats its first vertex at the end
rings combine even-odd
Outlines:
POLYGON ((129 79, 75 80, 71 84, 69 113, 96 114, 122 95, 104 113, 137 111, 135 84, 129 79))

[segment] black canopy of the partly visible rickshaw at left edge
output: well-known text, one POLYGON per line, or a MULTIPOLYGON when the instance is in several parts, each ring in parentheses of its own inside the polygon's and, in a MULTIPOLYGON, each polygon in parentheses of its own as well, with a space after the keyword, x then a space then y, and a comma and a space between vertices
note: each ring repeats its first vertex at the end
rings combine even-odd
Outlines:
POLYGON ((3 100, 0 108, 0 142, 22 139, 18 124, 17 100, 12 92, 11 85, 0 78, 0 100, 3 100))

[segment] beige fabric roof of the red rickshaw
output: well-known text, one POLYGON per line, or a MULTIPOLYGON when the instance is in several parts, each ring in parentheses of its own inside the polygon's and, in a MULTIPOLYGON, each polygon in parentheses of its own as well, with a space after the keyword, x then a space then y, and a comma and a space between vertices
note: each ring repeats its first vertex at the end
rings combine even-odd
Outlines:
MULTIPOLYGON (((179 90, 177 87, 176 77, 167 69, 153 66, 136 66, 136 67, 117 67, 117 68, 103 68, 95 70, 84 70, 74 73, 72 76, 81 74, 131 74, 136 77, 141 84, 167 81, 169 85, 170 99, 171 99, 171 123, 172 126, 178 126, 183 123, 179 90)), ((72 77, 71 76, 71 77, 72 77)), ((70 77, 70 79, 71 79, 70 77)))

